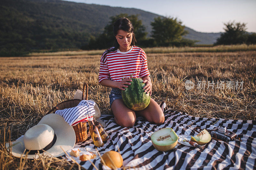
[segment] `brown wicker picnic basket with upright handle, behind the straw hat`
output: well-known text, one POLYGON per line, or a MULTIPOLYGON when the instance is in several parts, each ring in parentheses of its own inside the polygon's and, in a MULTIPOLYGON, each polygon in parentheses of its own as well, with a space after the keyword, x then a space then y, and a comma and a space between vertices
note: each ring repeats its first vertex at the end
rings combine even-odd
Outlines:
MULTIPOLYGON (((82 100, 84 100, 84 89, 86 86, 86 97, 85 100, 88 100, 88 85, 87 83, 84 83, 83 87, 83 95, 82 95, 82 100)), ((53 112, 55 113, 56 110, 62 110, 65 108, 71 108, 71 107, 76 107, 80 101, 80 99, 71 99, 71 100, 65 100, 62 101, 61 103, 57 104, 55 107, 53 107, 47 114, 53 112)), ((73 129, 75 130, 76 133, 76 143, 85 141, 87 139, 87 128, 86 128, 86 122, 80 122, 77 125, 73 126, 73 129)))

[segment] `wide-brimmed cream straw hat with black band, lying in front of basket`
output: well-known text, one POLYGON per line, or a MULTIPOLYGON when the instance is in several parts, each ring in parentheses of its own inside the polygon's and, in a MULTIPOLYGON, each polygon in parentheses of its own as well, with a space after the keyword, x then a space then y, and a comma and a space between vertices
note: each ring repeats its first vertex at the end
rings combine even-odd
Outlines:
MULTIPOLYGON (((15 157, 25 156, 30 150, 28 159, 37 159, 38 152, 45 156, 58 157, 64 155, 64 151, 73 149, 75 143, 76 134, 72 126, 69 126, 62 116, 48 114, 36 126, 28 129, 24 137, 13 141, 11 150, 15 157)), ((8 148, 9 143, 5 146, 8 148)))

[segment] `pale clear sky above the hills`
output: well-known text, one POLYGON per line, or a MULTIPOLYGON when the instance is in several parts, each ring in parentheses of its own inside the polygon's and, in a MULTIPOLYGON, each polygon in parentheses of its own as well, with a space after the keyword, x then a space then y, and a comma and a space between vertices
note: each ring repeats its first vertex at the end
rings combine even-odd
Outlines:
POLYGON ((224 32, 224 23, 247 23, 256 32, 256 0, 68 0, 86 4, 136 8, 165 17, 174 17, 195 31, 224 32))

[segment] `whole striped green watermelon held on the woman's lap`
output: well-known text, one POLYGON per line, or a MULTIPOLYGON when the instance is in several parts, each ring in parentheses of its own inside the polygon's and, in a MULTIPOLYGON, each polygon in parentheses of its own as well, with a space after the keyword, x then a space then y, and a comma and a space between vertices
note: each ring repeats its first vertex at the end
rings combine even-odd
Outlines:
POLYGON ((124 104, 134 111, 145 109, 150 102, 149 93, 144 92, 146 85, 141 78, 131 78, 131 85, 122 90, 124 104))

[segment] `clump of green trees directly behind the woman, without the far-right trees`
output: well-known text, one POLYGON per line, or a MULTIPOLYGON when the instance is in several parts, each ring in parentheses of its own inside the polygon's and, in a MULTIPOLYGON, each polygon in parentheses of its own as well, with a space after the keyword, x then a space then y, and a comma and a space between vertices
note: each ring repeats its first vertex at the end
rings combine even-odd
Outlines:
POLYGON ((110 17, 110 22, 105 26, 103 33, 99 36, 91 36, 89 43, 81 47, 81 49, 107 49, 113 46, 113 24, 121 17, 128 18, 134 27, 134 34, 136 45, 140 47, 169 47, 169 46, 192 46, 197 41, 185 39, 182 36, 188 32, 184 30, 182 22, 177 18, 157 17, 151 22, 152 34, 147 37, 148 33, 145 32, 145 26, 142 21, 138 19, 138 15, 119 14, 110 17))

